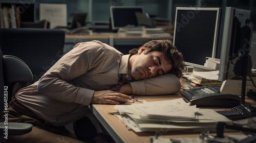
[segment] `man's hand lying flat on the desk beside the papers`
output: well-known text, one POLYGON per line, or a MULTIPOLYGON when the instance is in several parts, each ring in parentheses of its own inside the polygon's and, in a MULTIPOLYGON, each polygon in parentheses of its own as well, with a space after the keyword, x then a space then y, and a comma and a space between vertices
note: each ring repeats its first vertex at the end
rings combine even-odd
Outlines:
POLYGON ((124 103, 127 100, 131 100, 130 96, 127 96, 122 93, 103 90, 103 91, 95 91, 92 97, 91 103, 96 104, 120 104, 124 103))

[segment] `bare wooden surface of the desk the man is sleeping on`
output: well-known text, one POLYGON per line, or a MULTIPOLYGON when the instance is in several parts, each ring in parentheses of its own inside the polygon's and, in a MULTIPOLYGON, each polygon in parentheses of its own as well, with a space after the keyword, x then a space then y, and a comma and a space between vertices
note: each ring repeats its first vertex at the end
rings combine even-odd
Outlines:
MULTIPOLYGON (((173 100, 181 98, 180 95, 168 95, 168 96, 135 96, 136 99, 145 100, 147 102, 173 100)), ((256 101, 252 101, 246 98, 246 102, 256 105, 256 101)), ((114 105, 102 105, 93 104, 91 106, 94 115, 98 118, 103 127, 109 132, 116 142, 150 142, 150 138, 156 134, 163 138, 182 138, 182 137, 199 137, 199 133, 177 132, 163 130, 156 132, 142 132, 135 133, 129 131, 125 125, 115 115, 110 112, 117 111, 114 109, 114 105)), ((229 109, 229 108, 226 108, 229 109)), ((214 108, 214 110, 223 110, 223 108, 214 108)), ((241 134, 239 132, 228 132, 227 134, 241 134)))

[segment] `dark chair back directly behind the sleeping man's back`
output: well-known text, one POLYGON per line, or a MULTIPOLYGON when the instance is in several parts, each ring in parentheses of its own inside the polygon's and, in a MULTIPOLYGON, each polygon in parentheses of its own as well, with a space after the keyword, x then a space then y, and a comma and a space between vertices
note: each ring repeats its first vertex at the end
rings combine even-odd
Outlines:
POLYGON ((31 69, 34 83, 62 56, 65 32, 57 29, 0 29, 4 55, 21 58, 31 69))

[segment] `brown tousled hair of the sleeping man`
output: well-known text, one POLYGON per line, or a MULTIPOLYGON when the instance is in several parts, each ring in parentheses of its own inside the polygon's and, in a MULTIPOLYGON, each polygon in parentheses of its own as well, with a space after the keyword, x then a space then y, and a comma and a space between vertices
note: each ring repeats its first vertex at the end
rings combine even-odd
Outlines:
POLYGON ((183 59, 183 54, 178 51, 177 47, 173 45, 171 40, 151 40, 146 42, 142 46, 129 51, 131 55, 138 53, 141 47, 146 47, 144 54, 158 51, 163 52, 165 60, 173 65, 170 74, 176 75, 178 78, 182 76, 182 70, 184 69, 185 63, 183 59))

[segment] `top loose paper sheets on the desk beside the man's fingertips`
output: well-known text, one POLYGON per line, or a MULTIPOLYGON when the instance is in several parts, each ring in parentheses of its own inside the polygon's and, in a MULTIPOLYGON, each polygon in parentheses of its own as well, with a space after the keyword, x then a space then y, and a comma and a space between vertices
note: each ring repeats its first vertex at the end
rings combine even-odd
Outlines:
POLYGON ((120 114, 132 113, 152 118, 195 119, 196 106, 189 106, 182 99, 145 102, 144 104, 116 105, 120 114))

